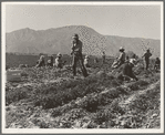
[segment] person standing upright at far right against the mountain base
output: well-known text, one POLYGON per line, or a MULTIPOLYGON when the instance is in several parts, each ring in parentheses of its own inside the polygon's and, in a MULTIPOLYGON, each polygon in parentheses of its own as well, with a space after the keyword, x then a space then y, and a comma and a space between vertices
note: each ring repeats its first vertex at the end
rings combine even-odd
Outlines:
POLYGON ((145 70, 148 69, 148 65, 149 65, 149 58, 151 58, 151 56, 152 56, 152 53, 151 53, 149 49, 146 50, 146 52, 145 52, 144 55, 142 56, 142 58, 144 58, 144 68, 145 68, 145 70))

